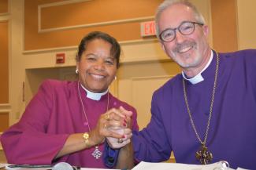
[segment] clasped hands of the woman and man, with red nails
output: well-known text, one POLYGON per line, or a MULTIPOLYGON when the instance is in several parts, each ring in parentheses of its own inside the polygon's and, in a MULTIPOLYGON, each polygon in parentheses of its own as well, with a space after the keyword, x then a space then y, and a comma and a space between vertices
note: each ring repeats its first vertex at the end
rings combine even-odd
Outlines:
POLYGON ((95 144, 106 139, 113 149, 127 145, 132 137, 132 111, 125 110, 124 107, 108 110, 98 119, 92 134, 95 144))

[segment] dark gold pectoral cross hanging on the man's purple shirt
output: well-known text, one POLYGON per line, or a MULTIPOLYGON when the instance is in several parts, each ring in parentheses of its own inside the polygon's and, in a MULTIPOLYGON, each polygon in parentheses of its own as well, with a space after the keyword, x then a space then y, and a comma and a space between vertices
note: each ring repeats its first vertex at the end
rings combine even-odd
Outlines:
POLYGON ((204 144, 202 144, 201 149, 195 153, 195 157, 202 165, 206 165, 212 161, 213 154, 208 151, 208 148, 204 144))

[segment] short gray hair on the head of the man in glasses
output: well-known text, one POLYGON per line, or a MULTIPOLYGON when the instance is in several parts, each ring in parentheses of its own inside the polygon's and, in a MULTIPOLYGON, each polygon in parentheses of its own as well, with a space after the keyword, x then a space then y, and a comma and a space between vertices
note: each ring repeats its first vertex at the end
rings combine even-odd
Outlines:
POLYGON ((160 30, 159 30, 159 27, 158 27, 158 22, 159 22, 161 13, 163 11, 165 11, 165 9, 167 9, 169 6, 175 5, 175 4, 187 5, 188 7, 190 7, 194 11, 195 20, 198 23, 205 24, 205 19, 202 16, 202 13, 200 13, 198 11, 198 9, 195 7, 195 5, 193 5, 191 2, 188 2, 187 0, 165 0, 164 2, 162 2, 158 6, 158 9, 157 9, 157 12, 156 12, 156 15, 155 15, 155 27, 156 27, 156 34, 157 34, 158 38, 159 38, 159 34, 160 34, 160 30))

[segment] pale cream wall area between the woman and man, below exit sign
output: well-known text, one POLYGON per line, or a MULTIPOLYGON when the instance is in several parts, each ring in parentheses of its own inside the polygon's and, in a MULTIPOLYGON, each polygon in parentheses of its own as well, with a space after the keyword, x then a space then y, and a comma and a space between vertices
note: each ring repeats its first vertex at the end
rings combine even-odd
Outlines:
POLYGON ((150 121, 153 92, 179 72, 180 68, 171 60, 121 65, 117 72, 117 97, 136 108, 139 129, 150 121))

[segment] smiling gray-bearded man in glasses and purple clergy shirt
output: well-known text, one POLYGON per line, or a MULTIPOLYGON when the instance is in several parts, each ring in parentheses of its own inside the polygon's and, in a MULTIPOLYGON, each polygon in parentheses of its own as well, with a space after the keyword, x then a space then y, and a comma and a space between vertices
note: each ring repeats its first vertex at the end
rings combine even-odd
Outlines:
POLYGON ((256 169, 256 50, 219 53, 190 2, 166 0, 156 14, 162 49, 182 73, 154 92, 147 128, 133 132, 138 161, 256 169))

